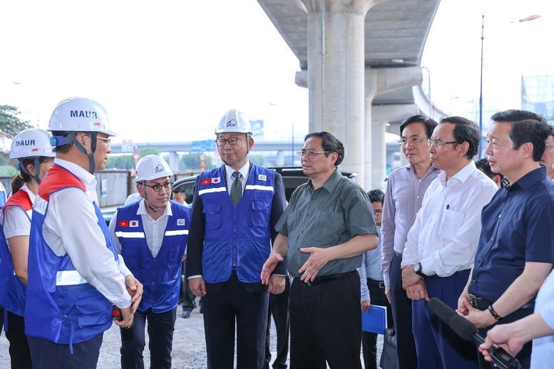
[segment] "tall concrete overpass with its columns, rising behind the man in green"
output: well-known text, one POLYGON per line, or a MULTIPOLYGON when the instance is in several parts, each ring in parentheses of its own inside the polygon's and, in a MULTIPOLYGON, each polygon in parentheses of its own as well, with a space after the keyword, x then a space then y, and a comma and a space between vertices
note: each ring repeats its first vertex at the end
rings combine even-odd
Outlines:
POLYGON ((419 64, 439 1, 258 0, 299 60, 309 130, 344 142, 342 168, 359 172, 364 188, 385 176, 385 132, 433 115, 419 64))

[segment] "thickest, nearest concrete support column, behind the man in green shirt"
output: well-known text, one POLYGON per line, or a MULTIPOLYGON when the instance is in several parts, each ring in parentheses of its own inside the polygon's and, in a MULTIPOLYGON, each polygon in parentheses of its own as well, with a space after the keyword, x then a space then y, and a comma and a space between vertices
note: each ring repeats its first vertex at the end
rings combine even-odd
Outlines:
POLYGON ((364 19, 376 1, 302 2, 308 13, 309 130, 341 140, 342 170, 359 172, 363 181, 364 19))

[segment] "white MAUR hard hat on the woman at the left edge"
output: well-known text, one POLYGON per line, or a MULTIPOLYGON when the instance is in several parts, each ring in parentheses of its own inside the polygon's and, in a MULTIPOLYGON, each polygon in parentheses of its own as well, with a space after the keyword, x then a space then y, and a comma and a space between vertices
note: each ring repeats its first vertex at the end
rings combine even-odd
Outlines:
POLYGON ((52 151, 50 138, 52 135, 40 128, 29 128, 19 132, 11 141, 10 159, 23 159, 26 157, 55 157, 52 151))

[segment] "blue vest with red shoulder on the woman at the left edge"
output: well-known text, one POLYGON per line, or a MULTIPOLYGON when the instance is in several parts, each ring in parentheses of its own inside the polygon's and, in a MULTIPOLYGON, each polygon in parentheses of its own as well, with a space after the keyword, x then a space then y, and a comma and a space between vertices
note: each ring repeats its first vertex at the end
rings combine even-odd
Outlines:
MULTIPOLYGON (((4 237, 4 211, 6 207, 11 206, 21 207, 24 212, 31 210, 32 203, 29 194, 24 190, 19 190, 9 198, 0 213, 0 306, 11 313, 24 316, 27 288, 15 274, 14 261, 11 259, 11 252, 4 237)), ((25 214, 31 222, 29 215, 25 214)))

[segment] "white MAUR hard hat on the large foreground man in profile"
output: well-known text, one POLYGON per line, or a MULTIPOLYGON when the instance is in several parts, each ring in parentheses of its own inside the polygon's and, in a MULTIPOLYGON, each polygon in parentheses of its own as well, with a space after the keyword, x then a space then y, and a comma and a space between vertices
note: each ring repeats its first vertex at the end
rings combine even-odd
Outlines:
POLYGON ((50 118, 48 130, 117 135, 111 130, 106 109, 89 98, 66 98, 58 103, 50 118))

